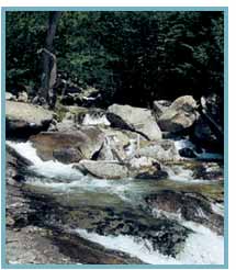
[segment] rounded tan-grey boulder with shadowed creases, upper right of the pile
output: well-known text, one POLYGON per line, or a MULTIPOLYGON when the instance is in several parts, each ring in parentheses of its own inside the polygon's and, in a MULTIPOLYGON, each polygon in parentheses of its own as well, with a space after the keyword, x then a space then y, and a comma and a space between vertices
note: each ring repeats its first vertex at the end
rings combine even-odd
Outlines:
POLYGON ((180 97, 162 113, 157 123, 164 132, 180 132, 198 120, 196 109, 196 101, 191 95, 180 97))

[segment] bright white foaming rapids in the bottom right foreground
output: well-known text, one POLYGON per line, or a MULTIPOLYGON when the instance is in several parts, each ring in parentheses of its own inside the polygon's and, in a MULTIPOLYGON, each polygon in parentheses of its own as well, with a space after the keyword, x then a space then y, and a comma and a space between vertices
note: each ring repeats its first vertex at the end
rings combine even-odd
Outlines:
POLYGON ((102 236, 80 228, 76 232, 83 238, 99 243, 110 249, 127 252, 151 265, 220 265, 224 262, 224 237, 194 223, 188 222, 184 225, 195 233, 190 234, 183 250, 177 258, 154 251, 148 240, 133 236, 102 236))

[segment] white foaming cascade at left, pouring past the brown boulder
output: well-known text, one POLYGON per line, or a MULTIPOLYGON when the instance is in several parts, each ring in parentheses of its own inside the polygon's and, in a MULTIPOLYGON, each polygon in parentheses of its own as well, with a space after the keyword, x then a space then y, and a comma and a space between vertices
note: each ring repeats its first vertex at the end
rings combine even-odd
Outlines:
POLYGON ((35 173, 47 178, 66 178, 70 180, 81 179, 82 173, 72 168, 72 164, 65 165, 57 160, 43 161, 36 154, 32 143, 14 143, 8 140, 7 144, 14 148, 21 156, 33 162, 30 166, 35 173))

